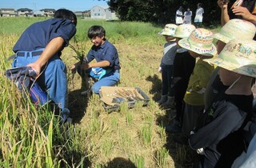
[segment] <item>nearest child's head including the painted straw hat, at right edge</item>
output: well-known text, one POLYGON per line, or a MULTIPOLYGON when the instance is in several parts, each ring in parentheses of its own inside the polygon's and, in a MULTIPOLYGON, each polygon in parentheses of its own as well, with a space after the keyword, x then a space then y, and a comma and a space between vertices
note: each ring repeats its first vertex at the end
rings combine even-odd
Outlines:
POLYGON ((256 42, 233 39, 226 43, 218 57, 206 62, 220 67, 219 75, 224 85, 230 86, 239 79, 256 78, 256 42))

